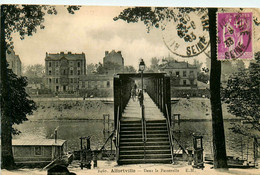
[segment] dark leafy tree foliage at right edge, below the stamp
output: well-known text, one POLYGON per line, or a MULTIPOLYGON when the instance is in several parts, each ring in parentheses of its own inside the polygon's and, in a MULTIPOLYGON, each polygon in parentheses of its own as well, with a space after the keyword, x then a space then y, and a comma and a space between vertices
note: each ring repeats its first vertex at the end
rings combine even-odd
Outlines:
POLYGON ((260 131, 260 52, 255 60, 247 70, 240 69, 229 78, 222 94, 228 111, 249 124, 233 123, 231 129, 251 137, 259 137, 260 131))

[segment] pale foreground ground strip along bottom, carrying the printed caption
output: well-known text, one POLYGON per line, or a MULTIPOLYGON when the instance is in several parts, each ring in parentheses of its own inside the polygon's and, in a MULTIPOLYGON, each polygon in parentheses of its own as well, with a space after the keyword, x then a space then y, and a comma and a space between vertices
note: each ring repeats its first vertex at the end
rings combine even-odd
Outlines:
MULTIPOLYGON (((172 164, 135 164, 118 166, 115 161, 98 161, 98 167, 95 169, 81 170, 78 163, 73 163, 68 167, 70 172, 77 175, 85 174, 144 174, 144 175, 172 175, 172 174, 190 174, 190 175, 258 175, 259 169, 229 169, 228 171, 215 170, 212 165, 205 164, 205 168, 194 169, 187 162, 175 162, 172 164)), ((3 175, 46 175, 46 170, 41 169, 19 169, 13 171, 2 170, 3 175)))

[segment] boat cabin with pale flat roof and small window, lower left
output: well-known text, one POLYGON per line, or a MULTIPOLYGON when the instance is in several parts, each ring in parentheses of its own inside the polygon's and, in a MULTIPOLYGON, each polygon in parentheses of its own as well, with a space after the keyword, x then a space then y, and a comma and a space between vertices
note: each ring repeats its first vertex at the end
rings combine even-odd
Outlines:
POLYGON ((61 139, 13 139, 15 163, 50 163, 67 152, 67 141, 61 139))

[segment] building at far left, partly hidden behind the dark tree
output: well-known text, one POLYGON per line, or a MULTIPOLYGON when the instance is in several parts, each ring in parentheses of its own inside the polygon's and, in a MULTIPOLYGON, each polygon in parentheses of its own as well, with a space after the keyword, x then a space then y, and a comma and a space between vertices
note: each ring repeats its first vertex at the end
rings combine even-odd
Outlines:
POLYGON ((6 60, 9 64, 8 68, 13 70, 13 73, 15 73, 17 76, 22 75, 22 62, 20 60, 19 55, 16 55, 15 52, 12 49, 9 49, 6 52, 6 60))

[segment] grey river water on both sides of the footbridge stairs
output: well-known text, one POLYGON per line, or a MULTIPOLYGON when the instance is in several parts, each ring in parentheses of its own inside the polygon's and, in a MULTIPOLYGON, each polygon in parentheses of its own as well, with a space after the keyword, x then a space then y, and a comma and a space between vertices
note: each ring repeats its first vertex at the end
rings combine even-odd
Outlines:
MULTIPOLYGON (((233 133, 228 128, 231 127, 229 121, 224 122, 226 148, 229 156, 236 156, 253 159, 253 141, 241 135, 233 133), (247 150, 247 148, 249 148, 247 150), (243 150, 243 151, 242 151, 243 150)), ((68 150, 74 151, 80 148, 80 137, 91 136, 91 149, 100 149, 109 133, 103 133, 104 125, 102 120, 46 120, 46 121, 26 121, 15 126, 22 133, 14 136, 14 139, 37 139, 54 138, 54 130, 58 129, 58 138, 67 140, 68 150)), ((112 125, 111 125, 112 128, 112 125)), ((192 134, 203 136, 204 153, 212 153, 212 127, 211 121, 184 121, 180 127, 175 126, 174 133, 184 147, 192 147, 192 134)), ((109 149, 109 144, 106 146, 109 149)))

